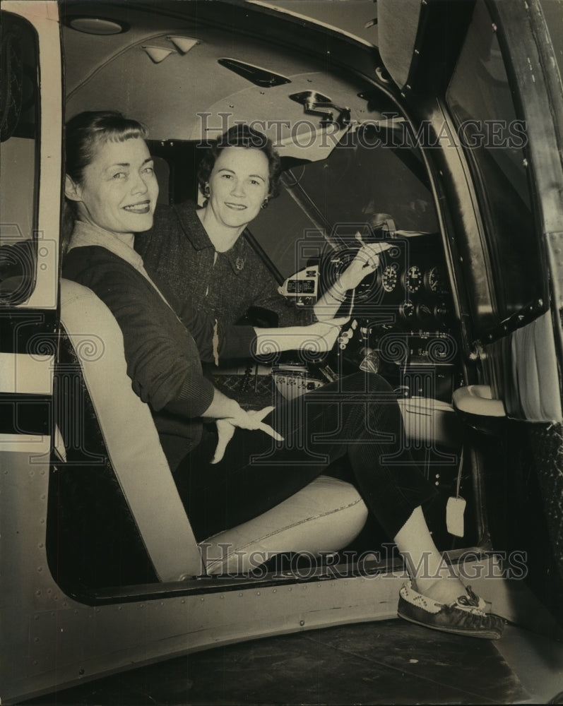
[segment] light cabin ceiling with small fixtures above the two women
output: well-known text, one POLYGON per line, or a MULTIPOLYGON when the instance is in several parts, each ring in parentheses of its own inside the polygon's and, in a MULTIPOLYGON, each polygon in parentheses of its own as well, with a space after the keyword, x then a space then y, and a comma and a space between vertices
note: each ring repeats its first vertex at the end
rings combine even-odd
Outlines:
MULTIPOLYGON (((165 6, 170 4, 158 8, 165 6)), ((295 142, 296 134, 307 144, 311 125, 321 131, 321 118, 305 114, 304 106, 290 98, 296 93, 315 91, 349 108, 352 123, 379 117, 358 95, 370 88, 367 81, 329 72, 326 61, 275 44, 266 32, 256 37, 210 26, 194 12, 201 3, 174 4, 184 6, 184 16, 157 13, 155 6, 152 11, 116 4, 102 10, 98 3, 67 6, 67 119, 83 110, 117 109, 147 124, 155 140, 213 138, 227 119, 229 124, 264 121, 264 131, 280 145, 290 137, 295 142), (127 31, 100 36, 68 26, 73 16, 96 12, 126 23, 127 31), (256 85, 220 64, 221 59, 259 67, 287 82, 256 85)))

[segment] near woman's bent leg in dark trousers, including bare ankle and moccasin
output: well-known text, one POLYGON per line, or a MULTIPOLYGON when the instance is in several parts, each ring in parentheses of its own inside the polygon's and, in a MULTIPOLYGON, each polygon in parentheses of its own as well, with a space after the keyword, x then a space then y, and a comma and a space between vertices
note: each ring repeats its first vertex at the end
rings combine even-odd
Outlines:
MULTIPOLYGON (((484 603, 450 573, 432 541, 421 505, 436 491, 408 453, 401 410, 383 378, 350 376, 283 405, 268 421, 283 443, 274 448, 264 435, 235 433, 221 464, 189 474, 186 501, 198 539, 277 505, 347 453, 365 502, 415 581, 415 590, 401 588, 399 615, 437 630, 500 637, 501 618, 485 614, 484 603)), ((210 460, 213 442, 201 450, 210 460)))

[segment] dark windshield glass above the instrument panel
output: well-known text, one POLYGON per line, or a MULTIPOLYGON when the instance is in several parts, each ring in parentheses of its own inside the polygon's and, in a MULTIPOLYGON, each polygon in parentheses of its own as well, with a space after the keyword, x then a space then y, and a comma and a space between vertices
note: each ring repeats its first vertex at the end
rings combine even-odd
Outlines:
POLYGON ((402 124, 388 131, 362 126, 345 136, 326 160, 286 172, 280 197, 251 224, 280 277, 307 265, 307 258, 298 256, 297 241, 316 227, 338 241, 339 235, 346 237, 374 215, 388 214, 399 230, 437 232, 425 164, 412 142, 403 143, 403 134, 402 124), (291 224, 282 238, 281 214, 283 222, 291 224))

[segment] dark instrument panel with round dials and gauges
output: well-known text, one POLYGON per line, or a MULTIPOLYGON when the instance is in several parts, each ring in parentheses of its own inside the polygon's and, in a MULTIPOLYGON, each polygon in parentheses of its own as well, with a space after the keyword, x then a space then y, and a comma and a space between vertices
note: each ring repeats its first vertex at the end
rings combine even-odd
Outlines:
MULTIPOLYGON (((389 239, 389 244, 379 255, 377 269, 369 271, 340 305, 338 316, 350 316, 350 323, 341 330, 333 351, 316 364, 308 364, 303 380, 291 373, 288 382, 284 379, 288 371, 276 371, 276 386, 285 397, 307 392, 316 386, 315 381, 331 381, 333 371, 357 369, 379 372, 401 394, 424 396, 429 393, 420 388, 424 378, 420 371, 432 369, 431 396, 449 402, 457 349, 453 343, 456 317, 441 237, 437 233, 408 234, 389 239), (412 365, 417 373, 411 381, 407 371, 412 365)), ((321 258, 319 297, 338 280, 357 250, 357 243, 350 242, 321 258)), ((309 263, 304 273, 314 266, 309 263)), ((298 273, 294 279, 301 276, 298 273)), ((298 306, 312 303, 303 295, 302 291, 298 306)), ((287 363, 292 354, 286 357, 287 363)), ((290 369, 295 369, 295 361, 290 369)))

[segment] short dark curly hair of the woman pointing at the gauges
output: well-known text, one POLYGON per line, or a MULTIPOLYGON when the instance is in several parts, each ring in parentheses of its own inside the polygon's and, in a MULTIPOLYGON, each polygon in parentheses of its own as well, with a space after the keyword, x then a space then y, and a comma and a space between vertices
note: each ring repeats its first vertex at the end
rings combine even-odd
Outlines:
POLYGON ((198 167, 198 184, 205 193, 206 184, 220 153, 227 147, 242 147, 260 150, 268 158, 268 198, 278 196, 280 191, 281 160, 272 140, 249 125, 237 124, 229 128, 211 147, 206 150, 198 167))

